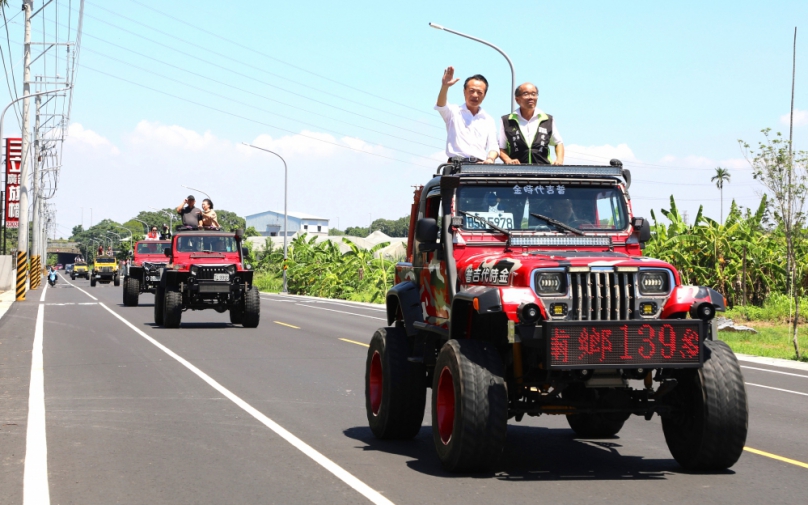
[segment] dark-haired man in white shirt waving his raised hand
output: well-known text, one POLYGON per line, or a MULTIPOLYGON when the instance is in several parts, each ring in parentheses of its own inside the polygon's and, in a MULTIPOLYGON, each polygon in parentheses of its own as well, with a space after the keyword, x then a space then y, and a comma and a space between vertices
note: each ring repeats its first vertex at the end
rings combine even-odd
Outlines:
POLYGON ((499 156, 497 125, 481 107, 488 92, 488 81, 480 74, 469 77, 463 83, 465 103, 461 106, 447 104, 449 88, 458 80, 454 76, 454 67, 443 72, 435 104, 435 110, 446 123, 446 156, 450 161, 453 157, 461 157, 472 163, 493 163, 499 156))

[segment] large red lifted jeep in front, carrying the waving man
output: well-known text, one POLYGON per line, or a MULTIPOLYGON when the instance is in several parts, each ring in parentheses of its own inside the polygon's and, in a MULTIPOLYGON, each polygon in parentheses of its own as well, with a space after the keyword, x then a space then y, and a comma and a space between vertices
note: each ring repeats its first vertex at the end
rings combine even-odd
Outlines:
POLYGON ((740 457, 746 390, 714 340, 724 298, 642 256, 630 174, 611 166, 446 164, 416 191, 409 261, 366 362, 376 437, 410 438, 432 388, 449 470, 494 464, 508 419, 560 414, 585 438, 662 418, 687 470, 740 457))

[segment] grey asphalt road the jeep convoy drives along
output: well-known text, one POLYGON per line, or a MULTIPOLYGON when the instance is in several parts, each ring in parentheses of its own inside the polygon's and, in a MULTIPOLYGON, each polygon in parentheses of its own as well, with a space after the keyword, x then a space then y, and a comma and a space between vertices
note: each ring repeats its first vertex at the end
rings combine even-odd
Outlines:
POLYGON ((363 344, 385 324, 379 308, 262 295, 256 329, 213 311, 164 329, 152 324, 152 295, 123 307, 120 287, 62 278, 40 296, 0 319, 2 504, 48 495, 54 504, 463 505, 808 496, 808 371, 742 363, 748 449, 762 454, 748 450, 726 472, 684 473, 658 418, 632 417, 618 437, 587 440, 543 416, 511 421, 496 471, 456 475, 434 454, 428 410, 413 441, 378 441, 367 427, 363 344), (29 384, 40 310, 38 432, 29 384))

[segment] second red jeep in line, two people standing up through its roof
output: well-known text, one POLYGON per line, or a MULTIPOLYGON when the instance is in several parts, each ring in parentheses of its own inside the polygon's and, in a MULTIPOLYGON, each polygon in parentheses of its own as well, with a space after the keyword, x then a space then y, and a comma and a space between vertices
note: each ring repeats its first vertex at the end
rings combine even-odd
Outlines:
POLYGON ((155 290, 155 324, 178 328, 183 311, 214 309, 230 311, 233 324, 257 327, 261 299, 246 254, 241 230, 177 232, 155 290))

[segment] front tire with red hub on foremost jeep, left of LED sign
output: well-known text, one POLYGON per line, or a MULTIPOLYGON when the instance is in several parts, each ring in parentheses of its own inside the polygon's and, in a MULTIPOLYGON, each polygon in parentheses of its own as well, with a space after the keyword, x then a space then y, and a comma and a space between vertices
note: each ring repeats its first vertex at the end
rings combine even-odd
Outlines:
POLYGON ((438 354, 432 385, 432 438, 449 471, 491 468, 508 426, 505 367, 496 348, 449 340, 438 354))

